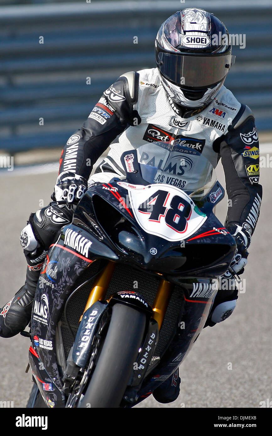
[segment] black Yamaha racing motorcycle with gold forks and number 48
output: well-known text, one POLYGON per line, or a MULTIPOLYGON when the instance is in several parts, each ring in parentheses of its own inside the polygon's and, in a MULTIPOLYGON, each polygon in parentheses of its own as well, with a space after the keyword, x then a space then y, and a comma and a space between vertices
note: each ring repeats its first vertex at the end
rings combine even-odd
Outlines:
POLYGON ((124 177, 91 185, 50 247, 27 407, 133 407, 175 377, 203 329, 236 249, 213 214, 224 189, 205 160, 198 182, 187 177, 200 162, 192 150, 175 172, 176 155, 159 146, 166 155, 149 164, 141 150, 123 153, 124 177))

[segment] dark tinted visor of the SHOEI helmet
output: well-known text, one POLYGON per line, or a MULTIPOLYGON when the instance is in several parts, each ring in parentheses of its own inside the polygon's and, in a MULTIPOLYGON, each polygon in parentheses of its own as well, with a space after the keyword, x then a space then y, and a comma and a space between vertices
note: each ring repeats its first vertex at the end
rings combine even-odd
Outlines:
POLYGON ((234 63, 230 53, 199 56, 158 52, 158 68, 162 75, 177 86, 210 88, 221 82, 234 63))

